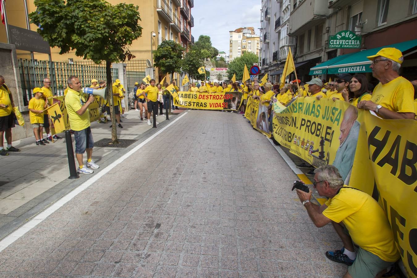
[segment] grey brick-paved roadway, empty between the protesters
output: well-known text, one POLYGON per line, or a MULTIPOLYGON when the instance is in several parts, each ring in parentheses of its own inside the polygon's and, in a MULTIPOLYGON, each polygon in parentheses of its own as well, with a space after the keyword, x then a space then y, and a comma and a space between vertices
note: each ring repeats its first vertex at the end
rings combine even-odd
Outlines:
POLYGON ((296 175, 241 115, 189 111, 0 253, 0 275, 340 277, 296 175))

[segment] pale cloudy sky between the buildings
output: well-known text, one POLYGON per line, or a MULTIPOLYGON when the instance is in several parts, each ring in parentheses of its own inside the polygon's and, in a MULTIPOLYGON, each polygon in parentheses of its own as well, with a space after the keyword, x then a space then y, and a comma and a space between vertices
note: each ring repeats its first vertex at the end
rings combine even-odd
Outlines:
POLYGON ((261 28, 261 0, 194 0, 191 8, 194 41, 200 35, 208 35, 212 45, 229 55, 229 31, 241 27, 261 28))

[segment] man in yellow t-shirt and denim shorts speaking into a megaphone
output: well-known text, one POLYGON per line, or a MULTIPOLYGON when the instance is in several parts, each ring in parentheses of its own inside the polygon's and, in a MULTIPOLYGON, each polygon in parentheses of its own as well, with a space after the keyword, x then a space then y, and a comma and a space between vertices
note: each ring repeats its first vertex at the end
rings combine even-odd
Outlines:
POLYGON ((99 166, 95 164, 92 155, 94 140, 90 128, 90 112, 88 106, 93 103, 94 96, 90 95, 88 100, 84 103, 83 95, 81 93, 81 83, 78 77, 71 75, 68 78, 68 90, 65 95, 65 107, 67 108, 68 120, 70 127, 74 131, 75 138, 75 156, 78 161, 78 173, 91 174, 92 169, 98 169, 99 166), (83 153, 87 152, 87 161, 83 163, 83 153))

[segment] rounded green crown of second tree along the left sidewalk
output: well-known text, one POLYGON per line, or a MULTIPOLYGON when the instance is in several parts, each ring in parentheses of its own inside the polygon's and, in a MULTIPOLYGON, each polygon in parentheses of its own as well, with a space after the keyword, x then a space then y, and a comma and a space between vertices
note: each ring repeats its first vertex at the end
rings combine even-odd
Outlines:
POLYGON ((173 40, 164 40, 153 52, 153 64, 162 73, 178 73, 181 71, 181 59, 184 51, 185 48, 179 43, 173 40))

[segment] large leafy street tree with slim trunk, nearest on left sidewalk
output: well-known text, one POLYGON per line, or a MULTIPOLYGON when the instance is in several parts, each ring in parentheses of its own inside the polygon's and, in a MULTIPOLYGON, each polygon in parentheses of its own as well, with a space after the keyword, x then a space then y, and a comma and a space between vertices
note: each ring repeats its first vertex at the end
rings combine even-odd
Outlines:
MULTIPOLYGON (((99 64, 106 61, 107 99, 113 104, 111 63, 135 56, 127 49, 142 35, 138 6, 119 3, 111 5, 100 0, 35 0, 36 11, 30 13, 38 33, 60 54, 75 50, 75 55, 99 64)), ((111 139, 118 143, 116 118, 112 106, 111 139)))

